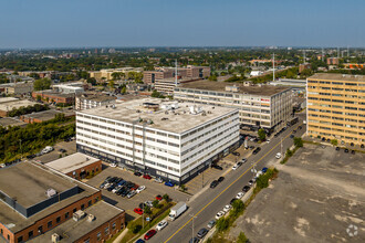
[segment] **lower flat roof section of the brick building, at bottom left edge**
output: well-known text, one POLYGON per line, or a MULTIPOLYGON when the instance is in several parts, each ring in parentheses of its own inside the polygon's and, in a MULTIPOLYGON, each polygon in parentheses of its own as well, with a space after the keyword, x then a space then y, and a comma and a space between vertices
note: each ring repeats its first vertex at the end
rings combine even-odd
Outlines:
MULTIPOLYGON (((64 223, 61 223, 56 228, 48 231, 45 234, 42 234, 38 237, 30 240, 34 243, 50 242, 52 234, 59 234, 62 240, 61 242, 75 242, 80 237, 84 236, 88 232, 94 231, 104 223, 114 219, 124 212, 124 210, 118 209, 105 201, 100 201, 84 210, 86 216, 80 220, 79 222, 74 221, 72 218, 64 223), (93 214, 95 220, 88 222, 87 215, 93 214)), ((104 229, 103 229, 104 231, 104 229)), ((109 225, 109 231, 112 231, 112 225, 109 225)))

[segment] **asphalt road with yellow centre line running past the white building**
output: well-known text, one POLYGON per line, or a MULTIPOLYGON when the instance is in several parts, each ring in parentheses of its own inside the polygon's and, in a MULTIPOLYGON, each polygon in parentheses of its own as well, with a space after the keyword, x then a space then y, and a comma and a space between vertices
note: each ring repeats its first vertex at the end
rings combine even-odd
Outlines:
MULTIPOLYGON (((257 155, 250 155, 248 161, 241 166, 238 170, 231 170, 226 175, 226 180, 215 189, 208 189, 199 197, 188 202, 188 210, 174 222, 169 222, 167 228, 152 237, 150 242, 189 242, 192 236, 192 219, 194 219, 194 234, 201 229, 206 228, 207 223, 215 219, 218 211, 222 210, 226 204, 229 204, 230 200, 242 190, 243 186, 253 178, 251 169, 255 167, 261 170, 268 166, 270 161, 275 159, 275 155, 281 151, 281 138, 282 150, 293 145, 293 139, 290 138, 293 129, 296 129, 302 125, 302 129, 298 129, 295 137, 300 137, 305 133, 305 125, 302 120, 305 118, 305 114, 300 114, 300 123, 288 128, 277 138, 271 138, 269 144, 261 146, 261 151, 257 155)), ((208 186, 209 187, 209 186, 208 186)))

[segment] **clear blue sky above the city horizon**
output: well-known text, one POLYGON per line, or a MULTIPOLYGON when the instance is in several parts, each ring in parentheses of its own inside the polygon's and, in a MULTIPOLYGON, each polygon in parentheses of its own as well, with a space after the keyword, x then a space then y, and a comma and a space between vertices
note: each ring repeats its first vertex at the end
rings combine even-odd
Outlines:
POLYGON ((0 0, 0 49, 365 46, 364 0, 0 0))

